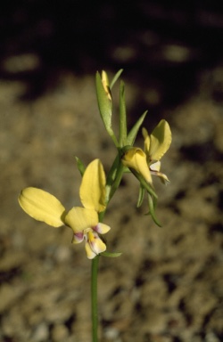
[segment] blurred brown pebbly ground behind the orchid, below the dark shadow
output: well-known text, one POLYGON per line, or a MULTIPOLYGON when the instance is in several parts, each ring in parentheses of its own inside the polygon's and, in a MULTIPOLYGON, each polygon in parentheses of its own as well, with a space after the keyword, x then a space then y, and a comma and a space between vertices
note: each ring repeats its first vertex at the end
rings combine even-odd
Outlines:
MULTIPOLYGON (((173 134, 162 163, 171 183, 155 182, 162 228, 143 215, 146 203, 136 208, 133 176, 125 176, 111 201, 108 248, 123 255, 100 262, 103 342, 223 340, 223 111, 210 84, 216 73, 223 69, 203 73, 196 94, 162 112, 173 134)), ((26 216, 17 197, 37 186, 70 208, 79 203, 74 156, 110 167, 115 149, 100 121, 94 77, 62 73, 54 89, 30 101, 22 100, 23 82, 0 82, 1 342, 90 341, 90 261, 83 245, 70 244, 68 228, 26 216)), ((124 78, 131 108, 141 85, 124 78)), ((152 131, 150 122, 158 120, 147 118, 152 131)))

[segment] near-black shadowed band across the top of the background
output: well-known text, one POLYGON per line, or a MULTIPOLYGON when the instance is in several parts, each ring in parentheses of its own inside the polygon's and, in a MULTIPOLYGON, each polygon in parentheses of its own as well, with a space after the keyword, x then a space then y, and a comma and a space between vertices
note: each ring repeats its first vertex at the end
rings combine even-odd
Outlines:
MULTIPOLYGON (((83 75, 123 68, 155 87, 159 101, 147 105, 159 112, 192 94, 199 72, 223 57, 220 1, 7 1, 0 32, 0 77, 25 79, 28 99, 54 86, 65 69, 83 75), (169 56, 173 45, 181 57, 169 56), (36 68, 4 68, 5 59, 24 53, 38 57, 36 68)), ((136 106, 145 108, 143 96, 136 106)))

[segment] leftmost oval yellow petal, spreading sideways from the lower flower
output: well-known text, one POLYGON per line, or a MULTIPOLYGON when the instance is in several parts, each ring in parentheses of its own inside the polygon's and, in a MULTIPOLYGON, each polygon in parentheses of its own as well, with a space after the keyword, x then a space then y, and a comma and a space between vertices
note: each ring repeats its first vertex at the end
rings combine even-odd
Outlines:
POLYGON ((53 227, 60 227, 64 224, 63 216, 65 208, 62 203, 49 192, 37 188, 26 188, 19 196, 21 208, 37 221, 53 227))

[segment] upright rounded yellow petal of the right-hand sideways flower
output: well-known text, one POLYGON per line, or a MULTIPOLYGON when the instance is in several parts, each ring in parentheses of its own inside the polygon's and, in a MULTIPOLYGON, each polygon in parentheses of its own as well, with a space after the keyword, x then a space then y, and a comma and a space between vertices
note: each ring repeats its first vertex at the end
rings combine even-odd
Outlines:
POLYGON ((172 135, 169 124, 166 120, 161 119, 150 135, 149 151, 146 151, 150 160, 160 160, 166 151, 169 150, 171 140, 172 135))

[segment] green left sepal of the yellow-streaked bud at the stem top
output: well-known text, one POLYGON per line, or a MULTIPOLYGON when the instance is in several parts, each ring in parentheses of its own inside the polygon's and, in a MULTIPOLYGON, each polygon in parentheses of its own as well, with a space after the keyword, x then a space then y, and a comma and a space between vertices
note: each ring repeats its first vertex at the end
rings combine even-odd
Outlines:
POLYGON ((103 125, 111 136, 111 139, 115 143, 116 147, 119 147, 119 142, 112 130, 111 127, 111 115, 112 115, 112 102, 111 102, 111 95, 108 91, 106 92, 103 87, 102 77, 99 72, 96 72, 96 94, 97 94, 97 102, 98 108, 101 114, 101 118, 103 119, 103 125))

